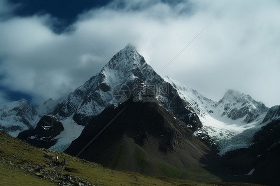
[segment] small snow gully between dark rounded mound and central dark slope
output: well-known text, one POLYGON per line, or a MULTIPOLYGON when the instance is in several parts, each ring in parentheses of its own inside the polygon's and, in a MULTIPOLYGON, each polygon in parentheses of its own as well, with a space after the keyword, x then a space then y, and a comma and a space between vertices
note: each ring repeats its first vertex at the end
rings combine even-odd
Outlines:
POLYGON ((72 116, 61 122, 63 124, 64 130, 54 138, 58 139, 58 141, 54 146, 50 147, 49 150, 63 152, 69 147, 72 141, 80 136, 84 129, 84 126, 78 125, 72 119, 72 116))

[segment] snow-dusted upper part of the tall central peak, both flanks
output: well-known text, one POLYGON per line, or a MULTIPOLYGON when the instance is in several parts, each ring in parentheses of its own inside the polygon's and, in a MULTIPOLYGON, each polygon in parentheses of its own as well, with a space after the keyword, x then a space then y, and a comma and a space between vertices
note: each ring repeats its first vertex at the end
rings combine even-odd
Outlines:
MULTIPOLYGON (((168 86, 131 44, 114 55, 100 73, 93 76, 73 93, 70 93, 65 100, 56 106, 51 114, 62 120, 73 115, 73 119, 78 124, 87 125, 93 116, 99 114, 106 106, 119 104, 112 96, 112 89, 118 84, 126 85, 131 94, 136 85, 141 84, 142 87, 146 87, 147 84, 166 84, 167 95, 159 92, 155 93, 157 97, 167 97, 168 101, 162 103, 163 106, 173 112, 176 117, 180 117, 185 123, 191 123, 193 120, 193 117, 186 115, 186 113, 194 112, 192 108, 185 107, 184 101, 179 98, 176 90, 172 86, 168 86), (181 108, 178 108, 178 105, 182 105, 181 108), (183 110, 186 113, 183 113, 183 110)), ((198 117, 195 120, 199 125, 198 117)), ((191 125, 195 129, 197 124, 192 123, 191 125)))

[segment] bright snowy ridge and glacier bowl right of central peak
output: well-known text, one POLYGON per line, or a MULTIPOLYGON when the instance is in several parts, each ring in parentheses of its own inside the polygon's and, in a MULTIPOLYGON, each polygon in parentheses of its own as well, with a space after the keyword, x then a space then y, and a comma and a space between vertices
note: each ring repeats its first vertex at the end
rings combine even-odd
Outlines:
POLYGON ((228 90, 219 102, 215 102, 172 78, 163 78, 198 114, 203 127, 194 135, 206 135, 213 139, 220 155, 249 147, 255 133, 267 124, 262 124, 262 121, 269 108, 250 95, 228 90))

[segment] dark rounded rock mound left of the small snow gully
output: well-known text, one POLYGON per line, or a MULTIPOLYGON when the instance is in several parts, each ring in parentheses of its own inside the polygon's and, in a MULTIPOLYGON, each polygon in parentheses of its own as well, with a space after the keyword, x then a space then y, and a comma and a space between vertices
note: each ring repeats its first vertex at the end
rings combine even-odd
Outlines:
POLYGON ((63 125, 54 116, 44 115, 35 129, 20 132, 17 138, 39 148, 50 148, 57 140, 53 139, 63 131, 63 125))

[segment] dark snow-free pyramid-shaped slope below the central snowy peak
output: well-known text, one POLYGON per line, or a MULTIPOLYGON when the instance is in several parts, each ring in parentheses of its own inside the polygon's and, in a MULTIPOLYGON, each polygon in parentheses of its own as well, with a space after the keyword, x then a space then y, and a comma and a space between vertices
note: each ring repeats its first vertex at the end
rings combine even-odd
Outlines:
POLYGON ((217 178, 206 165, 219 176, 226 172, 220 157, 157 102, 130 100, 107 107, 65 152, 116 170, 155 176, 217 178))

